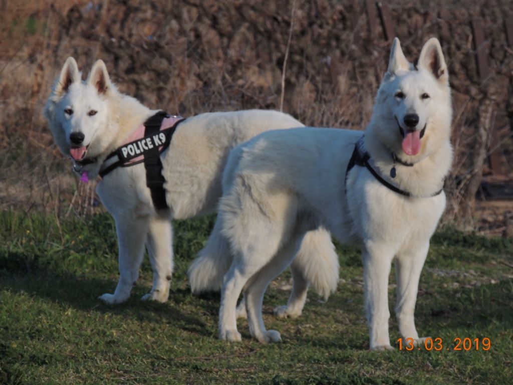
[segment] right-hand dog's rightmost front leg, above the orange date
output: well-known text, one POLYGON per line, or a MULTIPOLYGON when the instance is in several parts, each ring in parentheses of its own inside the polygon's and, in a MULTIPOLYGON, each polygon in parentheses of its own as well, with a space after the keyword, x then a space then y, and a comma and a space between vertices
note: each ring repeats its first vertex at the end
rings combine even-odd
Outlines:
MULTIPOLYGON (((424 343, 426 337, 419 338, 415 328, 413 313, 419 290, 419 279, 429 249, 429 242, 422 246, 410 247, 396 256, 397 301, 396 317, 401 336, 413 338, 413 344, 424 343)), ((407 342, 405 342, 407 343, 407 342)))

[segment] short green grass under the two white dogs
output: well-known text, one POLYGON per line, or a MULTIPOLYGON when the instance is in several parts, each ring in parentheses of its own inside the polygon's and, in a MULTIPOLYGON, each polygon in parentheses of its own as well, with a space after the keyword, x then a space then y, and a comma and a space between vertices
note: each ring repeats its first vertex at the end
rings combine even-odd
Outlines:
MULTIPOLYGON (((369 352, 362 267, 356 249, 337 245, 339 289, 323 303, 313 293, 303 315, 277 319, 289 292, 272 284, 266 326, 283 343, 261 345, 239 321, 242 343, 219 341, 219 294, 191 296, 186 271, 214 217, 175 223, 170 300, 141 302, 151 288, 147 259, 131 298, 97 297, 117 282, 114 223, 0 213, 0 383, 483 384, 513 377, 513 245, 445 229, 433 237, 416 319, 444 350, 369 352), (490 351, 454 351, 453 339, 485 338, 490 351)), ((390 306, 394 299, 390 278, 390 306)), ((392 342, 399 338, 390 321, 392 342)))

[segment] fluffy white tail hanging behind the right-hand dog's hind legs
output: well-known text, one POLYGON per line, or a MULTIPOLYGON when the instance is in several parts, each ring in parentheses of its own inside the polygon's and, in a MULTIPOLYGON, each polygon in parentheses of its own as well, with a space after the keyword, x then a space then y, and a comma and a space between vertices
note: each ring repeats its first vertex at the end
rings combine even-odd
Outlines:
POLYGON ((219 220, 215 222, 207 245, 198 253, 187 272, 193 294, 219 291, 231 265, 230 248, 227 239, 221 235, 219 223, 219 220))

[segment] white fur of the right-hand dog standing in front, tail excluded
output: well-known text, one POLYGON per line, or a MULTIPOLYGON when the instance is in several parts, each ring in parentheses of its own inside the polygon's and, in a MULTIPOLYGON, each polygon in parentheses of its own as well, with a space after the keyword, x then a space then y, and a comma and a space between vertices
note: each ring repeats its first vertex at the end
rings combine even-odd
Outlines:
MULTIPOLYGON (((447 66, 438 40, 431 38, 424 45, 416 70, 396 38, 364 141, 374 167, 412 197, 388 189, 365 167, 352 168, 345 183, 354 144, 362 136, 359 131, 278 130, 234 148, 224 172, 215 225, 229 239, 234 255, 226 263, 220 338, 241 339, 235 305, 243 291, 250 334, 261 342, 280 341, 277 331, 264 327, 265 289, 288 265, 305 233, 324 227, 341 242, 362 247, 370 348, 392 349, 388 334, 392 260, 400 333, 421 342, 413 312, 429 239, 445 207, 443 192, 432 195, 442 188, 452 161, 451 115, 447 66), (429 98, 422 96, 424 93, 429 98), (420 151, 412 156, 402 150, 398 127, 408 113, 419 115, 416 130, 427 124, 420 151), (389 177, 394 166, 392 153, 415 163, 413 167, 395 164, 393 181, 389 177)), ((407 127, 401 127, 406 131, 407 127)), ((202 253, 208 252, 213 252, 209 245, 202 253)))

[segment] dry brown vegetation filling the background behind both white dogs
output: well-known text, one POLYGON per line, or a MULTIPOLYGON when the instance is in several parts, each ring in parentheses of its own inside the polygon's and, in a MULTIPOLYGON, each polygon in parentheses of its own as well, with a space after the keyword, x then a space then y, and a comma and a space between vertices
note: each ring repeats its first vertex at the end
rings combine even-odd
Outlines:
MULTIPOLYGON (((308 125, 365 127, 390 46, 380 25, 369 32, 366 3, 295 0, 284 111, 308 125)), ((503 140, 500 174, 504 180, 512 176, 513 47, 504 26, 513 20, 513 7, 506 0, 388 4, 407 57, 416 57, 427 38, 437 36, 448 61, 456 159, 447 181, 446 220, 466 228, 486 225, 488 231, 505 228, 504 214, 493 224, 476 218, 473 197, 482 172, 490 174, 491 127, 503 140), (486 79, 479 78, 475 64, 476 18, 487 38, 486 79)), ((264 0, 0 1, 2 208, 66 213, 80 204, 91 207, 92 184, 81 187, 86 202, 76 198, 70 164, 41 115, 66 57, 74 56, 85 73, 103 59, 123 92, 183 116, 277 109, 291 8, 292 1, 264 0)), ((507 210, 511 205, 505 204, 507 210)))

